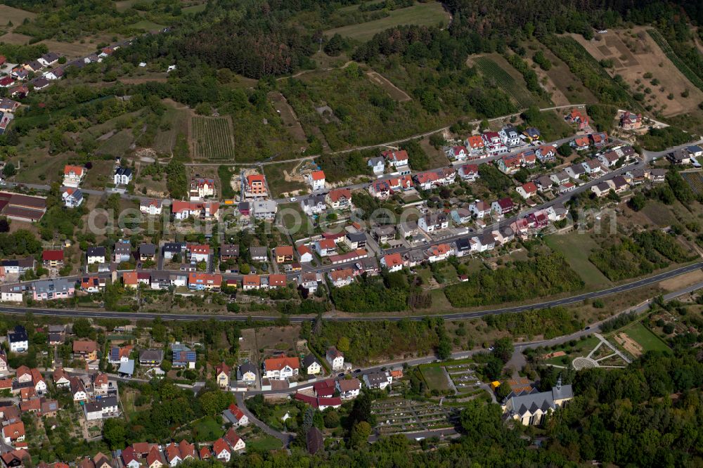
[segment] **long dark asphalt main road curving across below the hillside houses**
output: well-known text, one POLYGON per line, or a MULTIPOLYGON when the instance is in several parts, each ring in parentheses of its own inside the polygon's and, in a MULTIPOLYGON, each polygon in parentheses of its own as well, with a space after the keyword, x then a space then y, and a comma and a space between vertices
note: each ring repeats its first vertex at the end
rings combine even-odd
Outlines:
MULTIPOLYGON (((669 278, 674 278, 678 275, 683 275, 684 273, 690 273, 691 271, 703 268, 703 261, 696 262, 688 266, 683 266, 681 268, 676 268, 675 270, 666 271, 664 273, 659 273, 657 275, 649 276, 641 280, 636 280, 633 282, 628 282, 624 285, 609 287, 605 290, 585 292, 583 294, 576 294, 571 297, 564 297, 562 299, 553 299, 551 301, 538 302, 536 304, 526 304, 524 306, 512 306, 503 308, 491 308, 482 311, 473 312, 457 312, 457 313, 445 313, 437 314, 434 317, 442 317, 447 320, 456 320, 461 318, 477 318, 489 315, 499 315, 502 313, 516 313, 529 311, 536 308, 549 308, 555 306, 565 306, 568 304, 574 304, 576 302, 583 301, 584 299, 595 299, 597 297, 609 296, 610 294, 616 294, 618 292, 625 292, 630 290, 636 290, 638 287, 643 287, 647 285, 652 285, 656 282, 666 280, 669 278)), ((112 312, 112 311, 78 311, 72 309, 60 309, 60 308, 32 308, 32 307, 13 307, 13 306, 0 306, 0 313, 34 313, 36 316, 56 316, 56 317, 86 317, 86 318, 127 318, 131 320, 153 320, 154 318, 160 317, 164 320, 182 320, 182 321, 193 321, 193 320, 208 320, 209 318, 215 318, 217 320, 226 320, 228 322, 244 322, 246 320, 277 320, 278 316, 235 316, 235 315, 198 315, 198 314, 179 314, 172 315, 168 313, 139 313, 139 312, 112 312)), ((325 320, 334 320, 339 322, 352 322, 354 320, 392 320, 399 321, 404 318, 409 318, 410 320, 423 320, 426 316, 359 316, 359 317, 325 317, 325 320)), ((313 316, 292 316, 290 317, 291 322, 299 323, 306 320, 314 320, 313 316)))

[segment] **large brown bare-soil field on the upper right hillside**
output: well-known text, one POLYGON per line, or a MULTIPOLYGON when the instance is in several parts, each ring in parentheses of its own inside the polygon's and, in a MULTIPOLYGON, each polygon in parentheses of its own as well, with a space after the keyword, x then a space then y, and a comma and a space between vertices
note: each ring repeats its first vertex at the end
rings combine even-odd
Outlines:
POLYGON ((691 112, 703 100, 703 91, 678 71, 644 28, 609 30, 596 38, 600 40, 586 41, 579 34, 572 37, 596 60, 612 60, 610 74, 621 75, 633 93, 645 93, 643 105, 651 105, 662 115, 691 112), (645 78, 646 73, 652 77, 645 78), (681 93, 687 89, 689 95, 683 98, 681 93))

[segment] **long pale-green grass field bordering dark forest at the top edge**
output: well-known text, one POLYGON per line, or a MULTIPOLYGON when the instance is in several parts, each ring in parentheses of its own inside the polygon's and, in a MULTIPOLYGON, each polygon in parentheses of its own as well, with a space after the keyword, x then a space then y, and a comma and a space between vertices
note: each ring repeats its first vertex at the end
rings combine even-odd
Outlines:
POLYGON ((434 26, 441 24, 442 27, 449 22, 449 16, 438 1, 427 4, 415 4, 408 8, 400 8, 391 11, 386 18, 361 23, 360 25, 349 25, 336 27, 333 30, 325 31, 326 36, 341 34, 344 37, 356 39, 358 41, 368 41, 377 32, 385 31, 390 27, 398 25, 420 25, 434 26))

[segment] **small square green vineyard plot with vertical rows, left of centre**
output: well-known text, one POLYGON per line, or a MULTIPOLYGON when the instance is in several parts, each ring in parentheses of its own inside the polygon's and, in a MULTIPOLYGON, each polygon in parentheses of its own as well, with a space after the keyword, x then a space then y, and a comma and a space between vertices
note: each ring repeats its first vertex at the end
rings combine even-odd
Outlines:
POLYGON ((198 160, 233 160, 229 117, 193 117, 193 150, 198 160))

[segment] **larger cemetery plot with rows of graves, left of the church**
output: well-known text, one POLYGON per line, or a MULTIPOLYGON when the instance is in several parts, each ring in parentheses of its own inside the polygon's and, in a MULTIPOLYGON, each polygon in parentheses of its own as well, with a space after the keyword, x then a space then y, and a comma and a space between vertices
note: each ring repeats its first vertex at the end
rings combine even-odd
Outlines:
POLYGON ((371 410, 383 435, 453 427, 458 418, 458 408, 402 398, 375 402, 371 410))

